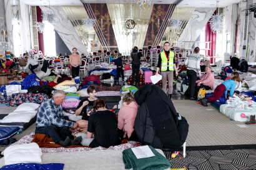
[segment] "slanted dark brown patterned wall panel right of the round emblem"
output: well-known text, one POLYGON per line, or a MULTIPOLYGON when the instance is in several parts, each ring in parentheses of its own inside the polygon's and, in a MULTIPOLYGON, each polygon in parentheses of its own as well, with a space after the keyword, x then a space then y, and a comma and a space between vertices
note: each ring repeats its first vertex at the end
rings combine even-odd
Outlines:
POLYGON ((161 25, 163 25, 162 29, 164 29, 162 34, 160 34, 160 39, 162 39, 162 36, 164 35, 165 29, 167 27, 166 22, 169 22, 170 17, 172 17, 173 11, 168 10, 172 6, 175 6, 175 4, 154 4, 150 17, 149 27, 147 28, 147 34, 145 35, 144 46, 153 45, 161 25), (165 15, 169 16, 168 20, 164 19, 165 15))

